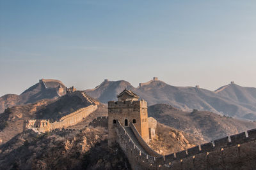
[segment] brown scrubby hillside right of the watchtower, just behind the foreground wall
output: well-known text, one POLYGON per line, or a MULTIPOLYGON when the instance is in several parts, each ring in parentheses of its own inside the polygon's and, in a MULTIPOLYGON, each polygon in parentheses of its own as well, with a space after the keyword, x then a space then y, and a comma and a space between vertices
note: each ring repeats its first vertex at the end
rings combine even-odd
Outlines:
POLYGON ((223 117, 209 111, 181 111, 168 104, 149 106, 148 117, 188 134, 196 134, 205 141, 256 128, 256 122, 223 117))

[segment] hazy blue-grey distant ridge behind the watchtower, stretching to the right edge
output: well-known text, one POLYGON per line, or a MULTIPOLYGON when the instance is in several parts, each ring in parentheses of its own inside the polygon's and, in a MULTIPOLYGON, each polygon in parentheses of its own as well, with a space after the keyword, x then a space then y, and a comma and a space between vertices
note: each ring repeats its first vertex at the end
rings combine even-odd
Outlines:
POLYGON ((145 99, 148 106, 164 103, 183 111, 206 110, 228 117, 256 120, 256 89, 234 83, 213 92, 198 87, 174 87, 159 80, 141 83, 137 88, 127 81, 104 81, 86 92, 107 103, 116 101, 116 95, 125 88, 145 99))

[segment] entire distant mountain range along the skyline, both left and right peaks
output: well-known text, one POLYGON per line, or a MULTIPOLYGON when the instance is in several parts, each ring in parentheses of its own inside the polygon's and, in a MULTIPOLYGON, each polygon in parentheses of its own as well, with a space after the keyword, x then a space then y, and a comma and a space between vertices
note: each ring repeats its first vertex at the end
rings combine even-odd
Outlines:
MULTIPOLYGON (((41 99, 56 99, 65 95, 66 87, 59 80, 42 79, 20 95, 6 94, 0 97, 0 113, 19 104, 35 103, 41 99)), ((128 81, 104 80, 95 89, 84 90, 101 103, 116 101, 122 90, 129 89, 154 104, 170 104, 182 111, 204 110, 228 117, 256 120, 256 88, 241 87, 233 81, 215 91, 196 87, 175 87, 154 78, 133 87, 128 81)))

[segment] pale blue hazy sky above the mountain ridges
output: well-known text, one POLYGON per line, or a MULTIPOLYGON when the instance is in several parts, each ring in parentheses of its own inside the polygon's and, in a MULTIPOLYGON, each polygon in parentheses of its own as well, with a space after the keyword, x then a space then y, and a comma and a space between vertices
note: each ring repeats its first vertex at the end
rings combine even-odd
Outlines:
POLYGON ((0 2, 0 96, 41 78, 256 87, 255 0, 0 2))

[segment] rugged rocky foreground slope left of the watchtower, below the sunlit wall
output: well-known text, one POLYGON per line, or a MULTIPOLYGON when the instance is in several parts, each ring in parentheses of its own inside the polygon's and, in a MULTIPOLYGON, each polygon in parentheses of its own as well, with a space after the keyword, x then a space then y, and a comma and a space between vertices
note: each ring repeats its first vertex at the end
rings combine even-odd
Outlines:
POLYGON ((103 128, 35 132, 0 146, 0 169, 130 169, 118 146, 108 148, 103 128))

